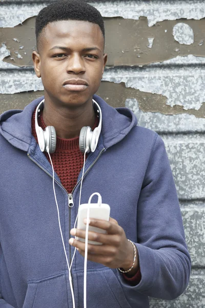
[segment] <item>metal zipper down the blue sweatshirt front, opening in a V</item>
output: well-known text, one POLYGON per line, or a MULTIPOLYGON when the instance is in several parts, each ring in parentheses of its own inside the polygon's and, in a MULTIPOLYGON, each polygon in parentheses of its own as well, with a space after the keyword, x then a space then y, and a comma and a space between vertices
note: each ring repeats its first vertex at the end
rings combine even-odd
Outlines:
MULTIPOLYGON (((96 163, 96 161, 100 158, 101 154, 103 153, 103 151, 105 150, 105 148, 101 149, 101 151, 99 152, 98 156, 96 157, 96 159, 94 160, 94 162, 92 162, 92 164, 90 165, 90 167, 86 170, 86 172, 84 173, 84 177, 85 175, 87 175, 88 171, 90 171, 90 169, 93 167, 93 165, 96 163)), ((46 174, 53 179, 53 176, 46 170, 44 169, 42 166, 40 166, 31 156, 29 153, 27 153, 28 158, 34 162, 40 169, 42 169, 44 172, 46 172, 46 174)), ((71 194, 69 194, 69 192, 66 190, 66 188, 58 181, 54 178, 54 181, 57 182, 62 188, 64 188, 67 192, 68 195, 68 206, 69 206, 69 240, 71 238, 71 234, 70 234, 70 230, 71 230, 71 208, 74 206, 74 202, 73 202, 73 192, 75 190, 75 188, 77 187, 77 185, 80 183, 82 177, 77 181, 75 187, 73 188, 71 194)), ((71 245, 69 245, 69 265, 71 265, 71 245)), ((72 285, 73 285, 73 276, 72 276, 72 271, 71 273, 71 281, 72 281, 72 285)))

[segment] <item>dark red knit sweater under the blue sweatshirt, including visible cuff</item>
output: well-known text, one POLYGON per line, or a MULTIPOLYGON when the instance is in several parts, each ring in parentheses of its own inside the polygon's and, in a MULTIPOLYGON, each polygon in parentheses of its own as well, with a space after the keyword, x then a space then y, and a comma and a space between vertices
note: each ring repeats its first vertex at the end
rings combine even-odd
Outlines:
MULTIPOLYGON (((96 117, 96 121, 92 129, 98 126, 99 119, 96 117)), ((45 130, 46 125, 43 120, 43 115, 40 113, 38 118, 38 125, 45 130)), ((32 115, 32 134, 35 137, 36 142, 37 135, 35 131, 35 111, 32 115)), ((48 153, 45 152, 47 159, 50 161, 48 153)), ((84 154, 80 152, 79 149, 79 137, 73 139, 56 138, 56 149, 53 154, 51 154, 51 159, 53 163, 53 168, 58 175, 61 184, 66 188, 67 192, 70 194, 77 183, 77 178, 81 168, 84 164, 84 154)), ((128 280, 131 284, 136 285, 141 280, 140 270, 132 278, 128 278, 125 274, 124 278, 128 280)))

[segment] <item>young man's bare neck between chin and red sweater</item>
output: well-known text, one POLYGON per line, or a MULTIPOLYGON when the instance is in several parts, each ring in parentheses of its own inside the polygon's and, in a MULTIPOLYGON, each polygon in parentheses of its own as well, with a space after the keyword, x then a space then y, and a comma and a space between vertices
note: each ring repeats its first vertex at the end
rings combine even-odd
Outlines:
POLYGON ((93 127, 95 118, 92 99, 75 108, 65 105, 57 106, 45 96, 43 120, 46 126, 55 127, 57 137, 64 139, 79 137, 80 129, 83 126, 93 127))

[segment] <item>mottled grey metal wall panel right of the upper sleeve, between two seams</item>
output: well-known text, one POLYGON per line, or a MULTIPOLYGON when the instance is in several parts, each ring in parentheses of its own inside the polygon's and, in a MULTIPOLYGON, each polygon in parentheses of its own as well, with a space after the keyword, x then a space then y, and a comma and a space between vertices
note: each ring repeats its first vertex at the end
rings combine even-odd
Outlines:
POLYGON ((175 134, 161 137, 168 152, 178 197, 181 200, 205 200, 204 135, 175 134))

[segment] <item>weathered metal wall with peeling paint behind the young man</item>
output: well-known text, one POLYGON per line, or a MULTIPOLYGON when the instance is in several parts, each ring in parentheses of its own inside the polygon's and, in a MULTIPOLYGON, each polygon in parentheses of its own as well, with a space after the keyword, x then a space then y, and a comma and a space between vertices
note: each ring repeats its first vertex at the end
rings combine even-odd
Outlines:
MULTIPOLYGON (((31 53, 34 16, 48 3, 0 2, 0 113, 43 94, 31 53)), ((150 299, 150 306, 205 307, 205 3, 90 3, 105 17, 109 54, 98 93, 114 107, 131 108, 165 141, 192 257, 186 292, 173 301, 150 299)))

